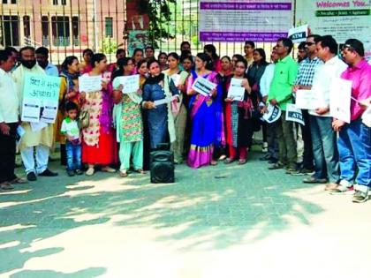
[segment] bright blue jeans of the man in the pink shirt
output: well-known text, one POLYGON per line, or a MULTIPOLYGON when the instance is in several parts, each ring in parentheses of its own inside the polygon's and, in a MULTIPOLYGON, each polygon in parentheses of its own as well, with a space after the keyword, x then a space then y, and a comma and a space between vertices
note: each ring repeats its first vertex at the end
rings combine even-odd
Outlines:
POLYGON ((362 187, 371 187, 371 128, 361 120, 345 124, 337 139, 340 178, 362 187), (356 176, 356 167, 358 174, 356 176))

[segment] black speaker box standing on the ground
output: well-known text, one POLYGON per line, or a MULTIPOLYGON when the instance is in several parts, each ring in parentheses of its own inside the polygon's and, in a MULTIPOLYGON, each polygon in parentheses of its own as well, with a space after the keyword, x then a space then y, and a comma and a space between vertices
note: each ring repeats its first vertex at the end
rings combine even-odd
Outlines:
POLYGON ((151 183, 174 183, 174 154, 170 151, 154 151, 150 154, 151 183))

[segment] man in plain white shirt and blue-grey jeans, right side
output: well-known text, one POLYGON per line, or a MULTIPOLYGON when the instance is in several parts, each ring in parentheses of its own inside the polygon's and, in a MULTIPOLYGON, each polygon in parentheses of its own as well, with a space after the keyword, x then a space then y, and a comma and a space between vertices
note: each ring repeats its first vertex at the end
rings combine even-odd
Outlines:
MULTIPOLYGON (((315 66, 313 86, 310 86, 321 107, 309 110, 310 131, 314 154, 314 175, 305 178, 307 184, 326 184, 325 190, 337 187, 339 182, 337 134, 331 129, 329 91, 331 83, 345 71, 346 65, 337 57, 337 41, 330 35, 315 37, 316 55, 322 60, 315 66)), ((309 57, 307 58, 309 59, 309 57)), ((303 61, 300 67, 310 61, 303 61)))

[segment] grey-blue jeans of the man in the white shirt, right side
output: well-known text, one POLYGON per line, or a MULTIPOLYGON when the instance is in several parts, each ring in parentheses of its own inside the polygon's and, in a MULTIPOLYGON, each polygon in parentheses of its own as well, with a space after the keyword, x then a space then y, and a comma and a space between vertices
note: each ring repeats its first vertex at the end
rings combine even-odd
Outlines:
POLYGON ((310 116, 312 146, 314 154, 314 177, 339 180, 337 133, 332 130, 332 117, 310 116))

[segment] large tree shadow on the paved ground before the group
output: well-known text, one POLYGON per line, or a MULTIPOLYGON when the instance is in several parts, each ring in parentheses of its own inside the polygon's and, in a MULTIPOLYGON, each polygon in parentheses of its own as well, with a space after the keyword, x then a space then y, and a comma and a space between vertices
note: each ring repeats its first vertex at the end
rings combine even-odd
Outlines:
MULTIPOLYGON (((157 239, 191 238, 192 244, 182 247, 186 250, 204 248, 205 243, 205 248, 223 249, 260 240, 290 229, 288 216, 309 225, 310 217, 322 208, 292 196, 295 190, 307 187, 301 184, 302 177, 289 177, 283 170, 269 171, 259 156, 253 153, 243 166, 220 163, 197 170, 179 166, 175 184, 148 184, 149 175, 120 179, 97 173, 91 180, 68 178, 58 168, 59 177, 23 184, 16 192, 2 192, 0 275, 22 268, 28 259, 64 251, 55 246, 24 252, 34 242, 69 229, 109 222, 117 215, 125 216, 115 222, 117 226, 178 228, 157 239), (96 217, 77 221, 81 214, 96 217), (254 237, 246 239, 253 230, 254 237)), ((54 166, 57 169, 57 162, 54 166)), ((104 267, 94 266, 73 274, 24 270, 11 277, 95 277, 104 272, 104 267)))

